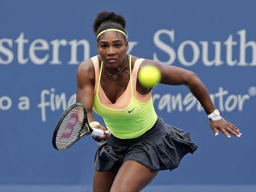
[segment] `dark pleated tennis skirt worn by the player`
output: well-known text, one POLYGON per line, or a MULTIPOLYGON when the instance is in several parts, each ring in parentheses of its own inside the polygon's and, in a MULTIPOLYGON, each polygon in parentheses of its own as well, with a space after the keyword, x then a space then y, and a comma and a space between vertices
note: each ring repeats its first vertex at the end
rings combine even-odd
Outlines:
POLYGON ((134 160, 151 170, 172 170, 184 155, 196 149, 189 132, 167 125, 158 117, 155 125, 138 138, 119 139, 110 135, 108 140, 98 142, 95 169, 118 171, 124 161, 134 160))

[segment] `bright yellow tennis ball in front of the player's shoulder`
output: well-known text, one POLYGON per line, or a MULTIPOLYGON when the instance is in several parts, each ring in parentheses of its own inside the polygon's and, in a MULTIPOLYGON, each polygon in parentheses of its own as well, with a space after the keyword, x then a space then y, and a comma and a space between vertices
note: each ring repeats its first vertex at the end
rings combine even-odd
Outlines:
POLYGON ((144 87, 154 87, 161 80, 161 72, 158 67, 152 65, 144 66, 139 69, 138 80, 144 87))

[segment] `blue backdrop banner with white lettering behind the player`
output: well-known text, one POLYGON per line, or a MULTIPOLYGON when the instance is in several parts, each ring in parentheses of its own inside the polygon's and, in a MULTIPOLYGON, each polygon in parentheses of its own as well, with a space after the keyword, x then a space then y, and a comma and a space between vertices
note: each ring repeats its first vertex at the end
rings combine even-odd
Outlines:
POLYGON ((255 7, 238 0, 1 0, 0 191, 92 190, 97 143, 85 138, 60 152, 51 139, 75 103, 77 66, 97 54, 92 24, 104 10, 126 18, 130 54, 195 72, 243 134, 214 136, 187 87, 158 84, 156 112, 190 131, 199 148, 144 191, 256 191, 255 7))

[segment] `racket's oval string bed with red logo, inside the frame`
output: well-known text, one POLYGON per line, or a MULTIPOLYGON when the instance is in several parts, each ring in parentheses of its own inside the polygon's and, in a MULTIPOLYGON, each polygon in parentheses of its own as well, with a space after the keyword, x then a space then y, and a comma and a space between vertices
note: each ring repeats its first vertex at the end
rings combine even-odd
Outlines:
POLYGON ((84 108, 76 106, 64 117, 56 135, 56 146, 60 149, 68 147, 79 137, 84 125, 84 108))

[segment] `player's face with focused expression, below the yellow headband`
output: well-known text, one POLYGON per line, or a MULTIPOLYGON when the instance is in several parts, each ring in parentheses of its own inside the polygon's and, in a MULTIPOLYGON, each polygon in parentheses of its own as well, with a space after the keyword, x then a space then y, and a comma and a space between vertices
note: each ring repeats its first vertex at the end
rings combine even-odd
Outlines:
POLYGON ((122 33, 108 31, 102 34, 98 40, 98 53, 104 65, 115 68, 123 63, 128 49, 128 42, 122 33))

